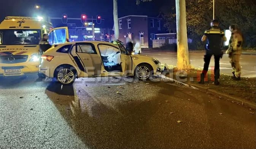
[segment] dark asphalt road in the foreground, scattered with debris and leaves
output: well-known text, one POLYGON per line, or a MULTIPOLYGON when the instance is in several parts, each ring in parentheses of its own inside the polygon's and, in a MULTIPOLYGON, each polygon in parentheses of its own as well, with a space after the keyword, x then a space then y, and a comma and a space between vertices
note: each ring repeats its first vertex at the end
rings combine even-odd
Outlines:
POLYGON ((254 110, 163 79, 97 79, 1 78, 0 149, 256 148, 254 110))

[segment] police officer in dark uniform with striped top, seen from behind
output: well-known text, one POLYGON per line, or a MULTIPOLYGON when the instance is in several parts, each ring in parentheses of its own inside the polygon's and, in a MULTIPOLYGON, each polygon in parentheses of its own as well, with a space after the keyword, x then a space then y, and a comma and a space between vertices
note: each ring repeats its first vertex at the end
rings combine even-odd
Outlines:
POLYGON ((223 56, 223 52, 221 50, 222 39, 223 41, 227 40, 224 35, 224 31, 219 27, 219 21, 215 19, 211 22, 209 30, 205 30, 204 36, 202 37, 202 41, 207 40, 207 47, 204 55, 204 69, 200 75, 200 84, 204 84, 204 77, 207 75, 211 56, 214 55, 214 84, 219 85, 219 60, 223 56))

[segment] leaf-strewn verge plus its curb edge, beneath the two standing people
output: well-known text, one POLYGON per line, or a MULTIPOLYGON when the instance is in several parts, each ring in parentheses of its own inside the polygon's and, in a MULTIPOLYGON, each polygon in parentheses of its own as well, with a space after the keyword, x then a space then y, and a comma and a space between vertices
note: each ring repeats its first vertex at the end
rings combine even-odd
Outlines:
POLYGON ((186 74, 172 72, 167 77, 194 86, 206 93, 219 97, 227 97, 231 102, 242 104, 247 107, 256 108, 256 78, 241 78, 240 81, 233 80, 230 75, 221 74, 220 85, 213 84, 214 76, 208 72, 205 84, 199 84, 200 70, 186 71, 186 74), (177 74, 177 75, 176 75, 177 74), (182 80, 183 79, 183 80, 182 80))

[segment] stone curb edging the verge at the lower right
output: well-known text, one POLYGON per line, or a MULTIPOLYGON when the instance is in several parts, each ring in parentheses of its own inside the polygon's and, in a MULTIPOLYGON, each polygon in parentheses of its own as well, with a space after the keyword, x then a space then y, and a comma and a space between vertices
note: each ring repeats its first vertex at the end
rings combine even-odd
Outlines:
POLYGON ((239 103, 243 103, 243 105, 247 106, 247 107, 250 107, 250 108, 253 108, 253 109, 256 109, 256 103, 253 103, 253 102, 249 102, 247 100, 244 100, 240 97, 234 97, 234 96, 230 96, 228 94, 224 94, 224 93, 219 93, 218 91, 215 91, 214 89, 206 89, 206 88, 203 88, 202 86, 199 86, 199 85, 194 85, 196 86, 197 88, 199 89, 202 89, 202 90, 206 90, 206 91, 209 91, 211 93, 214 93, 214 94, 217 94, 218 96, 223 96, 223 97, 226 97, 226 98, 229 98, 229 99, 232 99, 236 102, 239 102, 239 103))

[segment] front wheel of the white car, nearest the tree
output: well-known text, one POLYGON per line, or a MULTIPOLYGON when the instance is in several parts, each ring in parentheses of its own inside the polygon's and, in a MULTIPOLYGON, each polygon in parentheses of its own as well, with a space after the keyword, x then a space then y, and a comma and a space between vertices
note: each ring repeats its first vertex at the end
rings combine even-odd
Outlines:
POLYGON ((139 64, 135 67, 134 76, 140 81, 150 80, 153 76, 153 68, 149 64, 139 64))

